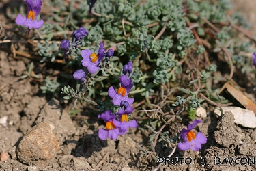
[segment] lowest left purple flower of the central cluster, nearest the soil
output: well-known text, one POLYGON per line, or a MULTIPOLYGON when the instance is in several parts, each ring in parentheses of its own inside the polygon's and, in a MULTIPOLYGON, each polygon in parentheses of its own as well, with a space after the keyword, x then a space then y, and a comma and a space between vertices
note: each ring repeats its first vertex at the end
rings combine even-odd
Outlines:
POLYGON ((106 140, 110 138, 111 140, 117 139, 119 135, 119 128, 115 126, 115 114, 112 114, 111 111, 106 111, 101 115, 98 115, 98 118, 102 118, 106 122, 106 129, 99 129, 99 138, 101 140, 106 140))

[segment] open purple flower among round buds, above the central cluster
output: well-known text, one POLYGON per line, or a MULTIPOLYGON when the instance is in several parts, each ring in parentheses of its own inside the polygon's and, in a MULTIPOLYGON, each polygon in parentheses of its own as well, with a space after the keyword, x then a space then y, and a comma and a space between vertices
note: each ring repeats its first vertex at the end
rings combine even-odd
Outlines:
POLYGON ((98 67, 98 64, 103 60, 104 58, 104 44, 100 42, 100 49, 98 51, 98 54, 96 53, 91 53, 91 50, 85 49, 81 51, 81 55, 83 57, 82 65, 86 66, 89 73, 94 74, 96 73, 97 70, 100 68, 98 67))

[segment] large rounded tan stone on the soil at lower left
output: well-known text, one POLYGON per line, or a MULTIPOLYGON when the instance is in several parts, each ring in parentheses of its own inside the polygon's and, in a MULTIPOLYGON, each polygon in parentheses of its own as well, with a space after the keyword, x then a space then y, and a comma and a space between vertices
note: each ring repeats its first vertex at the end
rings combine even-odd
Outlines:
POLYGON ((59 142, 46 123, 36 124, 18 144, 18 159, 29 166, 48 166, 54 159, 59 142))

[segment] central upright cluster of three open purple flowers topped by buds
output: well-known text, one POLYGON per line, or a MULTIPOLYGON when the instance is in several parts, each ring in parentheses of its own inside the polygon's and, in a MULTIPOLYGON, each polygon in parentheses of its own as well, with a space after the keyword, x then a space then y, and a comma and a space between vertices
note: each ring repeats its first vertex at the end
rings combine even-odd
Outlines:
POLYGON ((99 137, 101 140, 110 138, 111 140, 117 139, 118 135, 124 135, 128 131, 129 127, 136 128, 138 126, 136 120, 129 121, 129 116, 133 112, 132 105, 134 99, 128 98, 128 94, 133 86, 132 80, 128 79, 132 73, 132 62, 124 65, 123 73, 120 80, 120 87, 117 91, 111 86, 109 88, 109 96, 113 99, 112 103, 119 106, 119 110, 113 114, 111 111, 105 111, 98 115, 98 118, 102 118, 106 122, 106 129, 99 129, 99 137))

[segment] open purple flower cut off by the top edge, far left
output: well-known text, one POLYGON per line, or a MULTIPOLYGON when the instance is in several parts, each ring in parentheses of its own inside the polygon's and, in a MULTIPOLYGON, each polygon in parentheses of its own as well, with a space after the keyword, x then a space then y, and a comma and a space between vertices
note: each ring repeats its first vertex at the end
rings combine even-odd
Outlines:
POLYGON ((21 14, 18 14, 15 22, 17 25, 24 25, 29 27, 29 29, 39 29, 44 24, 43 20, 37 21, 36 18, 41 10, 42 1, 41 0, 25 0, 27 3, 27 16, 24 18, 21 14))

